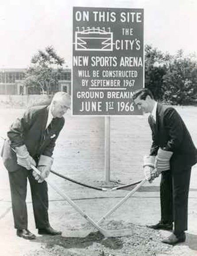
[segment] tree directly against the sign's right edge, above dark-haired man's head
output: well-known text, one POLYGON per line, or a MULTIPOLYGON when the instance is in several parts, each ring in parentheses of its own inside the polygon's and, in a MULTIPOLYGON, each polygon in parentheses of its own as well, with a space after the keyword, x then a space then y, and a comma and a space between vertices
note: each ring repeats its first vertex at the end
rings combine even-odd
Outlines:
POLYGON ((171 56, 151 45, 145 46, 145 87, 150 89, 155 99, 162 100, 163 75, 166 74, 171 56))

